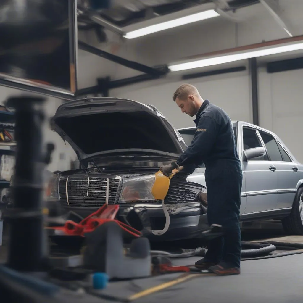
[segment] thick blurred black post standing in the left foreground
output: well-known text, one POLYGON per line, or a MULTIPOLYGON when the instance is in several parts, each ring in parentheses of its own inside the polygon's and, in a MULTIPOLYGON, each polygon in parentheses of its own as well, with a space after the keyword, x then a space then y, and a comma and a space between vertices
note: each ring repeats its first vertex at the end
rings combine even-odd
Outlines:
POLYGON ((44 98, 15 97, 8 106, 15 111, 15 140, 17 142, 14 208, 9 214, 10 247, 8 266, 19 271, 41 271, 47 258, 43 234, 42 155, 43 113, 35 106, 44 98))

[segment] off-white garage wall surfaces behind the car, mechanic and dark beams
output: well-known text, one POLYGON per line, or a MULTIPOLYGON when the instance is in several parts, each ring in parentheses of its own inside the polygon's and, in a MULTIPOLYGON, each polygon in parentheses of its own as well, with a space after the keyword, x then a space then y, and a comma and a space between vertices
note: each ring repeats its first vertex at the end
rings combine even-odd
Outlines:
MULTIPOLYGON (((286 21, 293 35, 303 34, 303 1, 280 0, 281 17, 286 21)), ((159 32, 138 39, 120 39, 114 34, 108 35, 108 42, 98 43, 93 33, 79 33, 79 40, 99 47, 115 55, 146 65, 159 65, 176 62, 183 57, 233 48, 241 45, 259 43, 273 39, 286 38, 286 32, 275 22, 268 11, 261 5, 253 5, 238 10, 230 17, 196 22, 180 28, 159 32)), ((242 63, 239 63, 242 65, 242 63)), ((238 63, 235 64, 237 66, 238 63)), ((212 69, 220 69, 220 65, 212 69)), ((298 160, 302 145, 300 138, 300 113, 302 112, 303 71, 267 74, 259 69, 259 109, 260 125, 276 132, 293 151, 298 160), (283 102, 287 100, 285 108, 283 102), (301 112, 300 112, 301 111, 301 112)), ((199 70, 191 70, 199 72, 199 70)), ((96 84, 96 78, 111 76, 112 80, 138 75, 121 65, 102 59, 96 55, 79 50, 78 52, 78 88, 96 84)), ((195 78, 180 81, 177 77, 149 81, 112 90, 113 97, 129 98, 155 105, 177 128, 193 125, 192 118, 182 115, 172 102, 172 94, 183 82, 197 86, 203 98, 222 107, 233 120, 252 122, 251 90, 248 71, 225 75, 195 78)), ((0 86, 0 102, 12 94, 22 92, 0 86)), ((48 98, 45 112, 50 117, 55 113, 61 100, 48 98)), ((52 132, 47 122, 44 128, 45 141, 56 145, 50 170, 65 169, 69 159, 75 158, 68 143, 52 132), (59 161, 60 153, 65 153, 65 160, 59 161)))

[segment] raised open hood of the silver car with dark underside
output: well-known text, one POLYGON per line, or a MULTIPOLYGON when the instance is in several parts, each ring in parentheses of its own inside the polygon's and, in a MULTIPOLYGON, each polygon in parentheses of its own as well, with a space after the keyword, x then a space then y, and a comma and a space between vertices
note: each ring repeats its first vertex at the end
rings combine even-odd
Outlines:
POLYGON ((129 151, 177 156, 185 149, 178 131, 154 106, 131 100, 66 102, 58 107, 51 126, 80 159, 129 151))

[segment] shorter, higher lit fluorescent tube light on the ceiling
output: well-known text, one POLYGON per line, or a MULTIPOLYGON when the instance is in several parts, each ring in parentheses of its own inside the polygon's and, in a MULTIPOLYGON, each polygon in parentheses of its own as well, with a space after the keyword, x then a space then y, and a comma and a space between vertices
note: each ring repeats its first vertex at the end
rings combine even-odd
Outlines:
POLYGON ((185 25, 188 23, 193 23, 193 22, 197 22, 197 21, 201 21, 201 20, 205 20, 205 19, 209 19, 209 18, 213 18, 213 17, 217 17, 217 16, 220 16, 220 14, 218 14, 215 10, 211 9, 211 10, 199 12, 199 13, 196 13, 193 15, 188 15, 185 17, 177 18, 177 19, 174 19, 171 21, 166 21, 166 22, 150 25, 150 26, 147 26, 144 28, 139 28, 132 32, 126 33, 123 37, 125 37, 127 39, 138 38, 138 37, 152 34, 155 32, 160 32, 165 29, 169 29, 169 28, 173 28, 173 27, 177 27, 177 26, 181 26, 181 25, 185 25))

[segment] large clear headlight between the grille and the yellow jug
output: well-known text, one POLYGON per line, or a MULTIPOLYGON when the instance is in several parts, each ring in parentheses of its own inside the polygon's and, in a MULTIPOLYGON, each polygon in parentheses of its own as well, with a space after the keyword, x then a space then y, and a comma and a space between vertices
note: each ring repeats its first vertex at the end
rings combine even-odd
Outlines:
POLYGON ((156 201, 151 193, 151 188, 154 183, 155 175, 125 179, 119 203, 131 201, 156 201))

